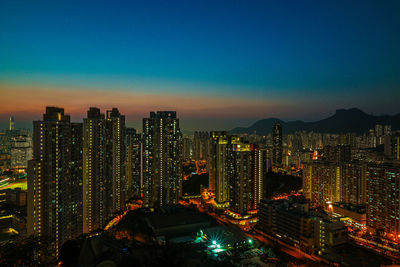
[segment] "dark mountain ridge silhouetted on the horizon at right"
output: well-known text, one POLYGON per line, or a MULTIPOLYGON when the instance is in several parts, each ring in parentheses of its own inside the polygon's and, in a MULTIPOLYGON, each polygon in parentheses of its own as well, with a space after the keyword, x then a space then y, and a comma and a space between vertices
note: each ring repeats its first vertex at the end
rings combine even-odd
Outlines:
POLYGON ((248 133, 252 134, 268 134, 271 132, 272 125, 280 122, 285 134, 297 131, 313 131, 319 133, 357 133, 362 134, 374 129, 376 124, 392 125, 392 130, 400 129, 400 113, 396 115, 374 116, 363 112, 358 108, 338 109, 336 113, 326 119, 304 122, 304 121, 288 121, 284 122, 280 119, 270 118, 259 120, 248 128, 237 127, 230 131, 231 134, 248 133))

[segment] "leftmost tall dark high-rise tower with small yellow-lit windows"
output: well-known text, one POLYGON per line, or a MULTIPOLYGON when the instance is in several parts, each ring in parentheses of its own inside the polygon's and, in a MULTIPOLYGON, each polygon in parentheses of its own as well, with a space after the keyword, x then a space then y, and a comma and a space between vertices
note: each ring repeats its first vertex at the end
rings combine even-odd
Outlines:
POLYGON ((61 245, 82 233, 82 124, 64 109, 46 107, 33 122, 28 163, 28 234, 45 237, 58 256, 61 245))

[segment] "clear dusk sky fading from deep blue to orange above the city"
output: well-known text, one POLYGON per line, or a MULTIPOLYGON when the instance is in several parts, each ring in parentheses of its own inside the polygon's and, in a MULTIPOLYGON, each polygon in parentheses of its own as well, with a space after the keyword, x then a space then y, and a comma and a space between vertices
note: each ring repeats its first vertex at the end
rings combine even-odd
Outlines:
POLYGON ((117 107, 141 130, 400 112, 400 1, 0 1, 0 127, 117 107))

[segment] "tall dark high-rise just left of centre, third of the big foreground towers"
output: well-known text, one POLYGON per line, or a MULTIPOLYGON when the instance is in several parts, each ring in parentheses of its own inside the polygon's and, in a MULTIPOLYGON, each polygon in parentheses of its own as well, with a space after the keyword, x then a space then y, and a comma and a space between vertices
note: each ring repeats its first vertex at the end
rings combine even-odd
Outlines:
POLYGON ((177 204, 182 194, 182 134, 175 111, 143 119, 142 177, 145 207, 177 204))

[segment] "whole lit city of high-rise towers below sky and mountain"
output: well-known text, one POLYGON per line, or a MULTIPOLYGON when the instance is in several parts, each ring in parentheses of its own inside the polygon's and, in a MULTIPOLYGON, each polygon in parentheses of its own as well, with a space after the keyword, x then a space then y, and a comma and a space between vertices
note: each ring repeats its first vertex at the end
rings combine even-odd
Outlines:
MULTIPOLYGON (((27 206, 27 211, 0 219, 11 218, 10 229, 17 229, 9 230, 11 234, 48 236, 47 249, 35 250, 36 261, 64 265, 67 241, 81 240, 82 233, 85 240, 104 237, 136 210, 164 217, 185 207, 208 213, 217 227, 236 224, 250 237, 241 241, 250 250, 264 238, 286 240, 294 247, 299 243, 301 253, 319 255, 313 258, 319 261, 334 255, 331 248, 351 245, 351 240, 375 246, 374 238, 380 238, 390 242, 385 250, 371 248, 398 260, 398 253, 392 252, 400 240, 400 131, 391 124, 377 123, 368 134, 283 135, 277 122, 267 136, 214 131, 195 132, 191 138, 182 136, 176 111, 150 112, 143 118, 143 133, 137 134, 125 126, 117 108, 104 113, 90 108, 82 123, 71 122, 63 108, 49 106, 43 120, 33 122, 32 135, 13 129, 13 124, 11 117, 10 129, 1 132, 1 184, 7 190, 2 196, 4 205, 27 206), (23 180, 27 190, 8 189, 23 180), (19 220, 27 222, 26 233, 24 225, 15 224, 19 220)), ((9 213, 13 210, 3 211, 9 213)), ((176 218, 174 224, 199 227, 198 221, 193 226, 186 219, 176 218)), ((171 222, 166 224, 171 233, 181 235, 171 222)), ((201 227, 209 231, 209 226, 201 227)), ((155 235, 162 233, 151 229, 155 235)), ((128 231, 114 233, 117 243, 132 240, 128 231)), ((239 248, 226 239, 217 243, 212 236, 201 242, 216 246, 215 253, 239 248)))

